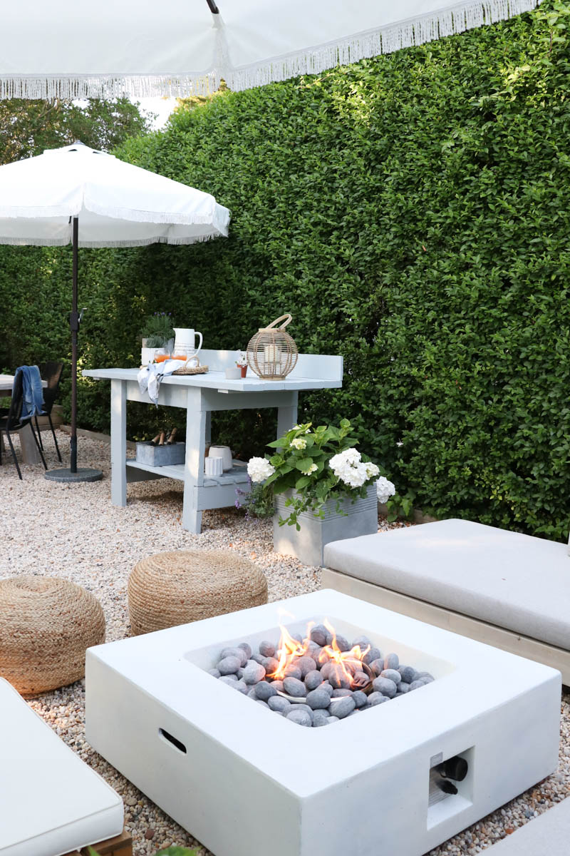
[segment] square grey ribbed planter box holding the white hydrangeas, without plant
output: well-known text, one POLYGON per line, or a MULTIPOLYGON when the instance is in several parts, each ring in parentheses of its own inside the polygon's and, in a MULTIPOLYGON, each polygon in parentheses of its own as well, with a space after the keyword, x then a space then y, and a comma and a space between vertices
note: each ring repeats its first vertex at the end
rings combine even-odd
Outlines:
POLYGON ((356 502, 344 499, 340 503, 344 514, 338 513, 334 499, 326 502, 324 519, 315 517, 310 511, 303 512, 299 515, 299 532, 295 526, 279 526, 279 516, 286 517, 289 512, 289 508, 285 508, 285 500, 293 494, 293 490, 288 490, 275 497, 273 550, 278 553, 296 556, 305 565, 321 566, 325 544, 330 541, 378 532, 378 499, 374 482, 368 485, 364 499, 358 497, 356 502))

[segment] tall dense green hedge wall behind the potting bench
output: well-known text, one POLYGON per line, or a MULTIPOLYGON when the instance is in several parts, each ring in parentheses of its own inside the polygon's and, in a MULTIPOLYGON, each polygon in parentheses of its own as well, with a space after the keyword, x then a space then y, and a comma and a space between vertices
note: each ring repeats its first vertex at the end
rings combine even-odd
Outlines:
MULTIPOLYGON (((546 0, 493 27, 224 94, 129 140, 121 157, 231 208, 231 236, 82 253, 84 365, 136 361, 147 312, 174 312, 208 347, 243 348, 290 311, 300 350, 342 353, 346 366, 342 390, 303 395, 302 419, 353 420, 426 511, 565 538, 568 21, 567 4, 546 0)), ((0 294, 15 253, 58 259, 50 282, 68 276, 64 253, 35 252, 3 249, 0 294)), ((13 317, 21 329, 21 308, 13 317)), ((109 389, 82 383, 80 413, 105 428, 109 389)), ((132 414, 134 434, 156 425, 148 407, 132 414)), ((216 426, 244 455, 273 438, 267 414, 216 426)))

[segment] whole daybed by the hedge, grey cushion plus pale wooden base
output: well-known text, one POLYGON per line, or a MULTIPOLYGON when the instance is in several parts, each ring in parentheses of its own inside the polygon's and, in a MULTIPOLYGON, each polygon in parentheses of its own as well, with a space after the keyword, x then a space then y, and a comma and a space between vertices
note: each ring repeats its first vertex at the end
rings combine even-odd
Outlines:
POLYGON ((441 520, 325 547, 323 588, 559 669, 570 685, 567 544, 441 520))

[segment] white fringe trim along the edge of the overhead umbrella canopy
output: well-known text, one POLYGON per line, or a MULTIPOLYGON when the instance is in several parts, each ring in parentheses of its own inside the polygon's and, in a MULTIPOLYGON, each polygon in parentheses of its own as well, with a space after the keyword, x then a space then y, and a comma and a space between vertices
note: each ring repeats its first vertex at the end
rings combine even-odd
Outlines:
POLYGON ((338 65, 349 65, 364 58, 423 45, 445 36, 463 33, 503 21, 513 15, 529 12, 542 0, 464 0, 452 9, 422 15, 386 27, 339 39, 320 48, 307 48, 297 53, 259 62, 245 68, 226 68, 227 51, 220 27, 216 64, 202 74, 162 75, 6 75, 0 76, 0 98, 138 98, 169 96, 185 98, 207 96, 215 92, 223 77, 235 92, 289 80, 301 74, 320 74, 338 65))

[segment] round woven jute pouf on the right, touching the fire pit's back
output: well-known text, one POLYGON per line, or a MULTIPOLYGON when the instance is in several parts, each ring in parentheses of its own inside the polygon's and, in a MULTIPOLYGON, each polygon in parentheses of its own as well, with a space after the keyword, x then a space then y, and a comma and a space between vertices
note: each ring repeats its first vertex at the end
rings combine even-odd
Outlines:
POLYGON ((232 550, 177 550, 138 562, 128 599, 138 636, 267 603, 267 580, 232 550))

